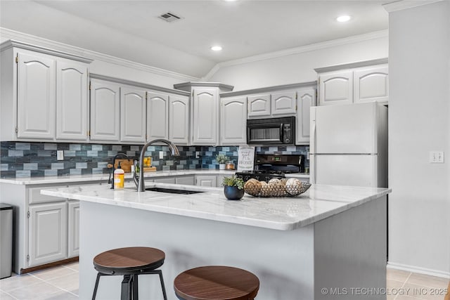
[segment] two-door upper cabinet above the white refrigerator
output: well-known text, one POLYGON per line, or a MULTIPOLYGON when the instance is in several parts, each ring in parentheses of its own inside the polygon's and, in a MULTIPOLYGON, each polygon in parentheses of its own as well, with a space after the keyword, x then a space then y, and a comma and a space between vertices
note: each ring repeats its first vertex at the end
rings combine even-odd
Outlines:
POLYGON ((387 58, 315 69, 319 75, 319 105, 373 102, 387 104, 387 58))

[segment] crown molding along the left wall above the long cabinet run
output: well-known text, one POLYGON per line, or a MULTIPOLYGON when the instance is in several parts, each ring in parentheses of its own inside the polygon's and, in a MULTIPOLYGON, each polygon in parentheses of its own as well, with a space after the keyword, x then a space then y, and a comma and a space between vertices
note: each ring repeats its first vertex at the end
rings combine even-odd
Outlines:
POLYGON ((4 39, 13 39, 15 41, 20 41, 25 44, 32 44, 34 46, 41 47, 41 48, 53 49, 54 51, 58 51, 58 52, 65 52, 72 56, 81 56, 81 57, 87 58, 89 60, 101 60, 105 63, 112 63, 114 65, 120 65, 122 67, 129 67, 134 70, 150 72, 152 74, 167 76, 167 77, 171 77, 174 79, 179 79, 181 81, 198 81, 198 80, 200 80, 200 78, 198 78, 198 77, 192 77, 189 75, 160 69, 158 67, 144 65, 142 63, 136 63, 131 60, 125 60, 123 58, 109 56, 108 54, 99 53, 99 52, 87 50, 84 48, 79 48, 77 46, 63 44, 58 41, 51 41, 49 39, 36 37, 34 35, 25 34, 23 32, 17 32, 15 30, 10 30, 10 29, 4 28, 4 27, 0 27, 0 36, 4 39))

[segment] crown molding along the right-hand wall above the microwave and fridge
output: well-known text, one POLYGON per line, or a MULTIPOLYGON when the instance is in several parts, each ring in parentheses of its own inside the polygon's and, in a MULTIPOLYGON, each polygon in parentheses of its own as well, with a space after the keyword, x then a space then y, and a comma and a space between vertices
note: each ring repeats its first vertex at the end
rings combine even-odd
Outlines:
POLYGON ((354 44, 359 41, 369 41, 371 39, 380 39, 380 38, 388 37, 388 36, 389 36, 388 30, 379 30, 376 32, 369 32, 367 34, 359 34, 359 35, 354 35, 352 37, 345 37, 342 39, 333 39, 331 41, 323 41, 321 43, 311 44, 311 45, 307 45, 307 46, 288 48, 288 49, 281 50, 281 51, 264 53, 264 54, 260 54, 257 56, 249 56, 247 58, 240 58, 237 60, 228 60, 228 61, 217 63, 216 65, 214 65, 214 67, 212 67, 210 72, 208 72, 205 75, 205 77, 203 77, 202 80, 206 80, 206 81, 209 80, 217 71, 220 70, 221 67, 229 67, 231 65, 241 65, 244 63, 253 63, 253 62, 260 61, 260 60, 269 60, 269 59, 273 59, 273 58, 280 58, 283 56, 292 56, 292 55, 298 54, 298 53, 316 51, 316 50, 320 50, 323 48, 332 48, 335 46, 342 46, 342 45, 347 45, 347 44, 354 44))

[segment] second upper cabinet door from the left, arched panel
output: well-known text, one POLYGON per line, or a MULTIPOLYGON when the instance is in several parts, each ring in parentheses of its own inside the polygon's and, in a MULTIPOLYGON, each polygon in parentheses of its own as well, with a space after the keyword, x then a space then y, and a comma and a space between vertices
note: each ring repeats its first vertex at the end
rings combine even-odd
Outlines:
POLYGON ((87 140, 87 67, 56 62, 56 138, 87 140))

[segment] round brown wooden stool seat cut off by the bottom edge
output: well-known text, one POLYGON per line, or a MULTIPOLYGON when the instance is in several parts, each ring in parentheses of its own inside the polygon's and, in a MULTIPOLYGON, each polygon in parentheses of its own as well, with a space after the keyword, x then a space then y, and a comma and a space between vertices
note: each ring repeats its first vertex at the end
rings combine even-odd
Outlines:
POLYGON ((181 300, 251 300, 258 293, 259 279, 240 268, 203 266, 176 276, 174 289, 181 300))

